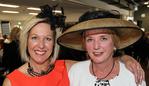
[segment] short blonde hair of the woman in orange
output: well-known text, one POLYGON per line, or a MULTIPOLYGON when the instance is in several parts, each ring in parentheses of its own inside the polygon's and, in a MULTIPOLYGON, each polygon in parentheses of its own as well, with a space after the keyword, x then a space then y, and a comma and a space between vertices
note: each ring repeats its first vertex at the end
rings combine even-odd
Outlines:
MULTIPOLYGON (((21 58, 23 61, 29 61, 29 53, 28 53, 28 49, 27 49, 28 36, 29 36, 31 29, 39 23, 47 23, 47 24, 51 25, 51 22, 48 18, 36 18, 36 17, 34 17, 29 22, 27 22, 27 24, 21 30, 21 33, 20 33, 20 53, 21 53, 21 58)), ((56 35, 55 28, 51 27, 51 30, 53 30, 53 33, 54 33, 53 37, 54 37, 54 45, 55 45, 55 35, 56 35)), ((54 52, 54 50, 53 50, 53 52, 54 52)))

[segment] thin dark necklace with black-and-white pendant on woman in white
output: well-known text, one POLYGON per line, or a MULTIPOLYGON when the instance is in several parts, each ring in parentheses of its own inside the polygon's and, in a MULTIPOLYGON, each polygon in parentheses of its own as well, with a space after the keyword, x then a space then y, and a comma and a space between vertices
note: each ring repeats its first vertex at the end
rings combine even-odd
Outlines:
POLYGON ((112 65, 112 68, 111 68, 111 70, 109 71, 109 73, 107 73, 107 75, 105 75, 104 77, 99 78, 99 77, 96 76, 96 74, 95 74, 95 72, 94 72, 93 62, 92 62, 92 65, 91 65, 92 73, 93 73, 94 76, 97 77, 94 86, 110 86, 109 80, 103 80, 103 79, 107 78, 107 77, 111 74, 111 72, 112 72, 113 69, 114 69, 114 66, 115 66, 115 62, 113 61, 113 65, 112 65))

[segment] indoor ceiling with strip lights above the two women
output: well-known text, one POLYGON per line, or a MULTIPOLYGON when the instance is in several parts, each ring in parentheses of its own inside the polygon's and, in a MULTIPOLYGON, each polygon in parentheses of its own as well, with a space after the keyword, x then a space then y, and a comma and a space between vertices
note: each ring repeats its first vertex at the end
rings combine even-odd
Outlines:
POLYGON ((20 6, 19 8, 0 7, 0 20, 25 21, 32 17, 31 15, 28 14, 29 12, 38 12, 38 13, 40 12, 40 11, 27 10, 26 9, 27 7, 40 7, 45 4, 55 6, 58 4, 59 7, 64 8, 65 15, 67 16, 66 20, 77 21, 76 20, 77 17, 87 10, 95 8, 110 9, 111 5, 113 5, 112 9, 117 9, 118 7, 119 8, 118 10, 122 10, 121 7, 124 7, 125 6, 124 4, 126 2, 131 3, 133 5, 136 3, 140 4, 144 1, 147 0, 0 0, 0 3, 14 4, 20 6), (114 2, 116 2, 119 5, 117 6, 117 4, 115 4, 114 2), (109 5, 107 5, 107 3, 109 5), (117 7, 114 8, 114 5, 117 7), (3 10, 19 11, 20 13, 7 14, 2 13, 1 11, 3 10))

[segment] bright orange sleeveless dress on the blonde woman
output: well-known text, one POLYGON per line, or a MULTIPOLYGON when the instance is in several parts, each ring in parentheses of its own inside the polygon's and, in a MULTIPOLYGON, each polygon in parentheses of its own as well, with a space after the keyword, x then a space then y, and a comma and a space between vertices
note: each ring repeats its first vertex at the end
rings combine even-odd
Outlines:
POLYGON ((47 75, 29 77, 18 70, 7 75, 11 86, 69 86, 64 60, 57 60, 55 68, 47 75))

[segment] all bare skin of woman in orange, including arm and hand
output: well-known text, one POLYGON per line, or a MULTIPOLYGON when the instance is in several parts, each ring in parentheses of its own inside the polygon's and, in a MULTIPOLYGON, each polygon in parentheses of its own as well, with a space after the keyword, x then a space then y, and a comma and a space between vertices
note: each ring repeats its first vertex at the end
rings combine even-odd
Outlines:
MULTIPOLYGON (((36 72, 40 72, 41 70, 47 70, 49 66, 49 56, 51 55, 54 46, 52 35, 53 33, 49 28, 51 28, 50 25, 45 23, 39 23, 35 27, 33 27, 29 33, 28 51, 30 54, 30 63, 31 66, 34 67, 33 69, 36 72)), ((124 55, 123 61, 126 63, 126 66, 128 65, 128 68, 132 69, 134 74, 138 75, 139 73, 141 77, 143 76, 144 71, 142 71, 141 73, 136 72, 135 69, 137 66, 138 69, 142 68, 140 67, 137 61, 132 59, 132 57, 124 55)), ((69 71, 70 67, 76 62, 77 61, 65 60, 67 70, 69 71)), ((28 64, 25 63, 23 66, 18 68, 18 70, 31 77, 26 71, 27 68, 28 64)), ((11 83, 8 78, 4 80, 3 86, 11 86, 11 83)))

